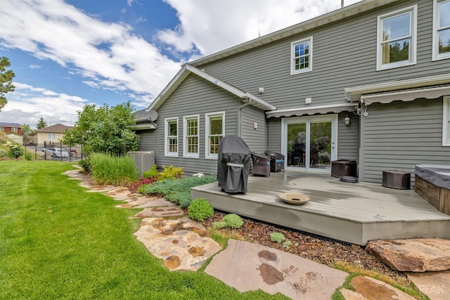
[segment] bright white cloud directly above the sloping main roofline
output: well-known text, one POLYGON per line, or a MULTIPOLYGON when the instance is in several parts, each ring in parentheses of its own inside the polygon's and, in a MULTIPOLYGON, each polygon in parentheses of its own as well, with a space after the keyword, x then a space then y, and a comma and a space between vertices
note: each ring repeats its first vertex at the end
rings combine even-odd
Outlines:
MULTIPOLYGON (((339 0, 165 0, 180 21, 158 38, 176 51, 203 55, 236 46, 340 8, 339 0)), ((361 0, 347 0, 346 5, 361 0)))

